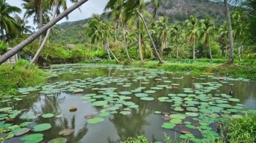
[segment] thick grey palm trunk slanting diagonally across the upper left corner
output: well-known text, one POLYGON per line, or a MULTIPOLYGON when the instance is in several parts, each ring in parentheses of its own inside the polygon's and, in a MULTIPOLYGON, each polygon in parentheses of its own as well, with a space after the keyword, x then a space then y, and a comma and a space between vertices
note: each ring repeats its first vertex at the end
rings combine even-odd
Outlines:
POLYGON ((47 24, 45 24, 45 26, 43 26, 41 29, 39 29, 36 33, 31 34, 31 36, 29 36, 26 40, 22 41, 21 43, 19 43, 18 45, 16 45, 15 47, 13 47, 13 49, 9 50, 8 52, 6 52, 5 54, 3 54, 0 57, 0 64, 3 64, 4 61, 6 61, 7 59, 9 59, 10 57, 12 57, 13 55, 15 55, 17 52, 19 52, 21 49, 23 49, 24 47, 26 47, 26 45, 28 45, 29 43, 31 43, 32 41, 34 41, 36 38, 38 38, 38 36, 40 36, 41 34, 43 34, 45 31, 47 31, 47 29, 49 29, 50 27, 52 27, 54 24, 56 24, 58 21, 60 21, 61 19, 63 19, 64 17, 66 17, 70 12, 76 10, 76 8, 78 8, 79 6, 81 6, 82 4, 86 3, 86 1, 88 0, 80 0, 77 3, 73 4, 72 6, 70 6, 70 8, 68 8, 67 10, 63 11, 62 13, 60 13, 60 15, 58 15, 57 17, 55 17, 54 19, 52 19, 50 22, 48 22, 47 24))

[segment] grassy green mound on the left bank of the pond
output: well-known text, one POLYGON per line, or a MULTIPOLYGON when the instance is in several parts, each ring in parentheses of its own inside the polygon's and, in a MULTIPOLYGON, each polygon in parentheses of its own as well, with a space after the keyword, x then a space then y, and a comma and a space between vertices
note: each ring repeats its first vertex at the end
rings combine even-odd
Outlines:
POLYGON ((1 94, 17 94, 17 87, 36 86, 45 82, 47 74, 26 60, 16 64, 0 66, 0 96, 1 94))

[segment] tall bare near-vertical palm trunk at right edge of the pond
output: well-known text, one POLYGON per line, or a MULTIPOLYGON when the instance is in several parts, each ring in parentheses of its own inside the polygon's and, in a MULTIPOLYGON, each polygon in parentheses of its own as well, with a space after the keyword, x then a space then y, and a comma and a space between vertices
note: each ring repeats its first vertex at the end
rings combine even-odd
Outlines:
POLYGON ((227 64, 233 64, 234 62, 234 41, 233 41, 233 35, 232 35, 232 24, 230 20, 230 13, 228 10, 228 2, 227 0, 224 0, 225 5, 225 15, 228 22, 228 40, 229 40, 229 57, 227 64))

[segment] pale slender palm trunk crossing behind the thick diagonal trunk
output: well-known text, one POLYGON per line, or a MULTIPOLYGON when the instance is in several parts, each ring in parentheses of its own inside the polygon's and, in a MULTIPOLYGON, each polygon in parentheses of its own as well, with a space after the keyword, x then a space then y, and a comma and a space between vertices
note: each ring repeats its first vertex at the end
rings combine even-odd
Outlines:
MULTIPOLYGON (((54 10, 53 10, 51 20, 54 19, 55 15, 56 15, 56 13, 57 13, 59 3, 60 3, 60 1, 58 1, 58 2, 56 3, 56 7, 55 7, 54 10)), ((35 56, 33 57, 32 61, 30 62, 31 64, 36 63, 38 57, 40 56, 40 53, 41 53, 42 50, 44 49, 45 42, 47 41, 48 37, 50 36, 50 33, 51 33, 51 27, 47 30, 47 33, 46 33, 46 35, 45 35, 45 38, 44 38, 43 42, 41 43, 39 49, 36 51, 35 56)), ((42 35, 41 35, 41 36, 42 36, 42 35)))

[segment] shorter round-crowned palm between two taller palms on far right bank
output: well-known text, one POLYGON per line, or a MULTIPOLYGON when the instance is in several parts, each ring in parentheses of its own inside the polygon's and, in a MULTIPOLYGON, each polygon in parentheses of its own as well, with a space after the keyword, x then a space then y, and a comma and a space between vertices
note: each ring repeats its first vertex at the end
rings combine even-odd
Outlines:
POLYGON ((184 30, 180 24, 173 24, 170 29, 170 38, 176 44, 176 57, 179 59, 179 45, 184 40, 184 30))

